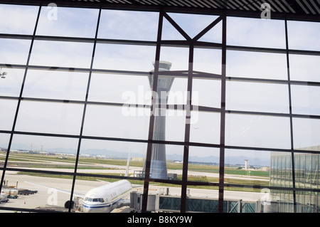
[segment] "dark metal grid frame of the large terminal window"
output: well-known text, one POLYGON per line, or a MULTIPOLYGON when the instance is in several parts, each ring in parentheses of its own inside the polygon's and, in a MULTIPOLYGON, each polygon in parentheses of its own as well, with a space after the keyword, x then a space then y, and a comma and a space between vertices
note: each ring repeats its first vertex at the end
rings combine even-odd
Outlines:
MULTIPOLYGON (((293 117, 299 117, 299 118, 310 118, 310 119, 320 119, 320 115, 297 115, 292 113, 292 100, 291 100, 291 85, 311 85, 311 86, 320 86, 319 82, 309 82, 309 81, 292 81, 290 80, 290 70, 289 70, 289 54, 299 54, 299 55, 311 55, 311 56, 320 56, 320 51, 301 51, 301 50, 291 50, 288 47, 288 33, 287 33, 287 20, 285 21, 285 33, 286 33, 286 48, 280 49, 280 48, 255 48, 255 47, 243 47, 243 46, 228 46, 226 43, 226 21, 228 19, 228 16, 226 14, 220 14, 218 15, 218 19, 213 21, 213 23, 210 23, 210 25, 205 28, 201 33, 198 34, 195 38, 190 38, 182 28, 176 24, 167 13, 167 11, 164 11, 164 9, 159 9, 159 26, 158 26, 158 36, 156 41, 130 41, 130 40, 114 40, 114 39, 103 39, 103 38, 97 38, 97 31, 99 28, 100 23, 100 15, 102 8, 100 7, 99 16, 97 18, 97 28, 95 32, 95 38, 78 38, 78 37, 60 37, 60 36, 37 36, 36 35, 36 29, 38 26, 38 20, 40 17, 41 9, 43 6, 39 5, 38 10, 38 16, 36 20, 36 25, 33 31, 33 35, 17 35, 17 34, 0 34, 0 38, 15 38, 15 39, 28 39, 31 40, 31 46, 28 53, 28 60, 26 65, 14 65, 14 64, 0 64, 1 67, 4 68, 23 68, 25 69, 25 73, 23 75, 23 82, 21 85, 20 94, 18 97, 13 96, 0 96, 0 99, 9 99, 9 100, 18 100, 18 105, 16 107, 16 113, 14 116, 14 122, 12 130, 0 130, 0 133, 3 134, 10 134, 9 144, 8 144, 8 151, 6 153, 6 159, 4 162, 4 167, 1 167, 0 169, 3 170, 2 176, 1 176, 1 184, 0 188, 2 188, 4 176, 6 171, 26 171, 26 172, 41 172, 41 173, 48 173, 48 174, 64 174, 73 176, 73 184, 72 184, 72 193, 70 196, 70 199, 73 199, 73 189, 75 186, 75 179, 76 176, 97 176, 96 174, 83 174, 77 172, 78 167, 78 158, 80 153, 80 146, 82 139, 101 139, 101 140, 114 140, 114 141, 122 141, 122 142, 142 142, 148 144, 147 151, 146 151, 146 177, 145 178, 139 178, 139 177, 126 177, 126 176, 102 176, 106 178, 114 178, 114 179, 138 179, 144 181, 144 199, 142 202, 142 211, 146 211, 146 204, 147 204, 147 195, 149 192, 149 182, 155 181, 155 182, 163 182, 163 183, 169 183, 169 184, 177 184, 181 185, 181 212, 186 212, 186 189, 188 185, 202 185, 202 186, 218 186, 219 188, 219 212, 223 212, 223 193, 224 189, 227 186, 240 186, 244 188, 254 188, 254 189, 262 189, 262 186, 247 186, 247 185, 236 185, 236 184, 225 184, 224 182, 224 169, 225 169, 225 149, 249 149, 252 151, 274 151, 274 152, 289 152, 292 154, 292 176, 293 176, 293 186, 291 187, 279 187, 279 186, 270 186, 270 189, 277 189, 277 190, 288 190, 293 191, 294 193, 294 204, 296 204, 295 201, 295 193, 296 191, 316 191, 320 192, 320 189, 301 189, 296 188, 294 183, 294 152, 299 153, 314 153, 319 154, 320 152, 316 151, 308 151, 308 150, 297 150, 294 149, 294 143, 293 143, 293 129, 292 129, 292 118, 293 117), (161 40, 161 31, 162 31, 162 22, 163 19, 166 18, 185 38, 186 41, 162 41, 161 40), (210 30, 210 28, 213 28, 215 24, 222 21, 223 23, 223 31, 222 31, 222 43, 206 43, 198 41, 198 38, 201 38, 203 34, 205 34, 207 31, 210 30), (85 42, 85 43, 94 43, 93 50, 92 50, 92 60, 90 64, 90 68, 68 68, 68 67, 50 67, 50 66, 40 66, 40 65, 29 65, 29 60, 31 57, 31 52, 33 48, 33 43, 36 40, 45 40, 45 41, 73 41, 73 42, 85 42), (142 72, 133 72, 133 71, 122 71, 122 70, 101 70, 101 69, 94 69, 92 68, 93 60, 95 58, 95 47, 97 43, 118 43, 118 44, 131 44, 131 45, 146 45, 146 46, 156 46, 156 56, 155 56, 155 70, 154 70, 154 90, 156 90, 157 85, 157 78, 159 75, 161 75, 161 72, 159 71, 159 60, 160 60, 160 52, 162 46, 183 46, 186 48, 189 48, 189 67, 186 71, 177 71, 177 72, 170 72, 169 75, 173 75, 176 77, 182 77, 188 79, 188 92, 191 93, 192 91, 192 79, 193 78, 204 78, 204 79, 213 79, 213 80, 220 80, 221 81, 221 106, 220 108, 213 108, 213 107, 202 107, 199 106, 199 111, 208 111, 208 112, 218 112, 220 113, 220 144, 206 144, 206 143, 198 143, 198 142, 190 142, 190 125, 185 125, 185 139, 184 142, 176 142, 176 141, 154 141, 152 138, 153 132, 154 132, 154 116, 151 115, 149 119, 149 136, 148 139, 121 139, 121 138, 113 138, 113 137, 90 137, 90 136, 84 136, 82 135, 83 130, 83 124, 85 119, 85 112, 87 105, 116 105, 116 106, 122 106, 123 103, 110 103, 110 102, 90 102, 87 100, 88 91, 90 88, 90 80, 92 73, 124 73, 127 75, 150 75, 150 73, 142 73, 142 72), (212 73, 200 73, 193 71, 193 49, 194 48, 218 48, 222 51, 222 64, 221 64, 221 75, 212 74, 212 73), (225 73, 225 66, 226 66, 226 54, 227 51, 234 50, 234 51, 256 51, 256 52, 267 52, 267 53, 284 53, 287 56, 287 73, 288 73, 288 80, 270 80, 270 79, 257 79, 257 78, 236 78, 236 77, 227 77, 225 73), (38 70, 60 70, 60 71, 70 71, 70 72, 87 72, 89 73, 88 83, 87 83, 87 93, 85 100, 83 101, 76 101, 76 100, 57 100, 57 99, 45 99, 45 98, 31 98, 31 97, 23 97, 23 87, 24 83, 26 81, 26 75, 28 72, 28 69, 38 69, 38 70), (277 112, 250 112, 250 111, 235 111, 235 110, 225 110, 225 83, 227 80, 230 81, 246 81, 246 82, 255 82, 255 83, 279 83, 279 84, 287 84, 288 85, 288 93, 289 93, 289 114, 282 114, 277 112), (82 122, 81 122, 81 129, 80 134, 78 135, 70 135, 70 134, 51 134, 51 133, 38 133, 38 132, 20 132, 16 131, 16 120, 18 117, 18 111, 19 107, 21 105, 21 100, 31 100, 31 101, 38 101, 38 102, 63 102, 63 103, 78 103, 84 105, 84 110, 82 113, 82 122), (278 117, 289 117, 290 119, 290 134, 291 134, 291 149, 270 149, 267 147, 239 147, 239 146, 229 146, 225 145, 225 115, 229 113, 235 113, 235 114, 241 114, 241 115, 267 115, 267 116, 278 116, 278 117), (73 173, 66 173, 61 171, 39 171, 39 170, 30 170, 30 169, 15 169, 12 167, 7 167, 12 139, 14 137, 14 134, 24 134, 24 135, 34 135, 34 136, 46 136, 46 137, 69 137, 69 138, 75 138, 79 139, 78 142, 78 149, 77 149, 77 156, 76 156, 76 162, 75 162, 75 171, 73 173), (183 150, 183 179, 182 181, 172 181, 172 180, 163 180, 163 179, 150 179, 149 178, 149 167, 150 167, 150 161, 151 161, 151 146, 154 143, 160 143, 160 144, 176 144, 176 145, 182 145, 184 147, 183 150), (215 147, 220 149, 220 167, 219 167, 219 182, 218 183, 204 183, 204 182, 195 182, 195 181, 188 181, 187 179, 187 173, 188 173, 188 149, 190 146, 196 146, 196 147, 215 147)), ((110 9, 110 8, 108 8, 110 9)), ((112 9, 112 8, 111 8, 112 9)), ((119 9, 119 8, 117 8, 119 9)), ((124 8, 124 10, 129 10, 127 7, 124 8)), ((168 73, 166 73, 168 74, 168 73)), ((192 94, 191 94, 192 95, 192 94)), ((187 110, 187 119, 190 117, 190 112, 193 110, 193 106, 191 105, 191 95, 188 97, 187 105, 185 105, 187 110), (190 107, 190 108, 188 108, 190 107)), ((154 108, 155 100, 152 100, 151 104, 151 111, 154 108)), ((174 108, 177 107, 174 106, 168 106, 168 108, 174 108)), ((99 175, 101 177, 101 175, 99 175)), ((10 208, 2 208, 2 209, 9 209, 10 208)), ((19 210, 15 208, 15 210, 19 210)), ((20 209, 21 211, 31 211, 30 209, 20 209)), ((69 209, 70 212, 70 209, 69 209)), ((294 212, 295 206, 294 206, 294 212)))

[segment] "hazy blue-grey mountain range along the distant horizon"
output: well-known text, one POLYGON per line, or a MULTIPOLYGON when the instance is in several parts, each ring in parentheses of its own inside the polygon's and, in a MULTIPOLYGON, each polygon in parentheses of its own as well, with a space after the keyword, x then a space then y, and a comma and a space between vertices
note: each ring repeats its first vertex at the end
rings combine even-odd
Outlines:
MULTIPOLYGON (((0 144, 1 147, 6 147, 4 144, 0 144)), ((30 149, 30 146, 26 144, 14 144, 13 149, 30 149), (29 147, 29 148, 27 148, 29 147)), ((65 148, 55 148, 55 149, 47 149, 46 152, 51 152, 51 153, 68 153, 68 154, 75 154, 74 149, 65 149, 65 148)), ((84 149, 81 151, 81 154, 88 154, 90 156, 95 156, 95 155, 103 155, 105 157, 110 157, 110 158, 120 158, 120 159, 127 159, 128 153, 126 152, 115 152, 109 149, 84 149)), ((141 153, 134 153, 132 152, 130 154, 131 157, 141 157, 145 158, 143 154, 141 153)), ((166 159, 172 160, 172 161, 177 161, 177 162, 182 162, 183 160, 183 155, 180 154, 166 154, 166 159)), ((226 164, 231 164, 231 165, 245 165, 245 159, 248 159, 248 164, 249 165, 254 165, 257 167, 269 167, 270 166, 270 159, 265 159, 265 158, 260 158, 260 157, 245 157, 245 156, 226 156, 225 157, 225 163, 226 164)), ((198 156, 190 156, 189 157, 189 162, 198 162, 198 163, 210 163, 210 164, 217 164, 219 163, 219 157, 217 156, 206 156, 206 157, 198 157, 198 156)))

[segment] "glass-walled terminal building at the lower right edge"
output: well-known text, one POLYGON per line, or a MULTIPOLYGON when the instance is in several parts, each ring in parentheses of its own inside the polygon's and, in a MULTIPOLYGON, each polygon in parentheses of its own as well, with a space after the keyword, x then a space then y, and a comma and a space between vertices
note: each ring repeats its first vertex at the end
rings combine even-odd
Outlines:
MULTIPOLYGON (((319 146, 317 146, 319 148, 319 146)), ((306 148, 308 150, 316 147, 306 148), (310 148, 310 149, 309 149, 310 148)), ((293 187, 300 189, 319 189, 320 154, 294 154, 294 179, 292 172, 292 154, 289 152, 272 152, 270 165, 270 186, 293 187)), ((279 212, 294 212, 294 196, 298 213, 319 213, 320 195, 316 191, 272 190, 272 195, 279 202, 279 212)))

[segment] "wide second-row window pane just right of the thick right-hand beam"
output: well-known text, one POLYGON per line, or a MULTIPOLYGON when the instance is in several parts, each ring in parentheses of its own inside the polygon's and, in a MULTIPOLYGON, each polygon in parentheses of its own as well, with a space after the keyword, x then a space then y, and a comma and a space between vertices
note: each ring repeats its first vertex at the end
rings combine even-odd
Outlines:
POLYGON ((227 75, 287 80, 287 58, 279 53, 227 51, 227 75))

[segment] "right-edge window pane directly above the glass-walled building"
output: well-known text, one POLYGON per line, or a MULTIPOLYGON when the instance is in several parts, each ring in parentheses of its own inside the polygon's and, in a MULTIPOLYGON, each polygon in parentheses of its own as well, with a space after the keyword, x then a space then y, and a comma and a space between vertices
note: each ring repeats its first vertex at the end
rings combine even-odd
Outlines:
POLYGON ((293 118, 294 149, 320 151, 320 120, 293 118))

